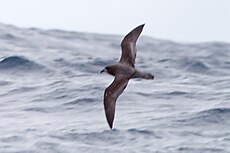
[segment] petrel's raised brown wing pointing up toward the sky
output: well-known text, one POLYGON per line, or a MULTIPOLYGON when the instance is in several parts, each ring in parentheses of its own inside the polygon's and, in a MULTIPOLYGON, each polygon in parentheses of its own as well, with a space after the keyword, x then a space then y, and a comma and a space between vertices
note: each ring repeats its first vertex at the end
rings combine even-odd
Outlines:
POLYGON ((129 66, 135 67, 135 59, 136 59, 136 41, 140 36, 144 24, 136 27, 130 33, 128 33, 125 38, 121 42, 121 58, 119 63, 124 63, 129 66))

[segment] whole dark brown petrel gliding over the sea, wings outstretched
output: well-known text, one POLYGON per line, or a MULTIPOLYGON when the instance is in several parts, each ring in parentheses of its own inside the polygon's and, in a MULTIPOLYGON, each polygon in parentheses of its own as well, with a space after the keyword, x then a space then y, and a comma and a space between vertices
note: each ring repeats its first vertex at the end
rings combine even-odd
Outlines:
POLYGON ((144 24, 136 27, 122 40, 122 54, 119 63, 106 66, 101 71, 101 73, 107 72, 108 74, 115 76, 112 84, 106 88, 104 92, 105 115, 111 129, 113 128, 116 100, 125 90, 129 79, 154 79, 152 74, 138 71, 134 66, 137 52, 136 41, 140 36, 143 27, 144 24))

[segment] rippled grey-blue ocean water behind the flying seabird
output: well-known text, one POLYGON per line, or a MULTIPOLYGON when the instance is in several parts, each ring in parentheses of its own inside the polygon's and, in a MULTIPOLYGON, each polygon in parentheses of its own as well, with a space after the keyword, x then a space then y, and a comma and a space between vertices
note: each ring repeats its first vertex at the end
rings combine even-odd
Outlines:
POLYGON ((0 24, 0 153, 229 153, 230 44, 141 36, 155 80, 129 82, 110 130, 99 72, 122 38, 0 24))

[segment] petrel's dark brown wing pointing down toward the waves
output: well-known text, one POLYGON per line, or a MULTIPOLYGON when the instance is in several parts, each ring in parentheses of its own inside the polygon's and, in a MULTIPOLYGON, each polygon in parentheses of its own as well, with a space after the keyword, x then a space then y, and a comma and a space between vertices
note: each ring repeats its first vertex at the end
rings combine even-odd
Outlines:
POLYGON ((110 128, 113 128, 116 100, 125 90, 129 79, 124 75, 118 75, 104 92, 104 109, 107 122, 110 128))

